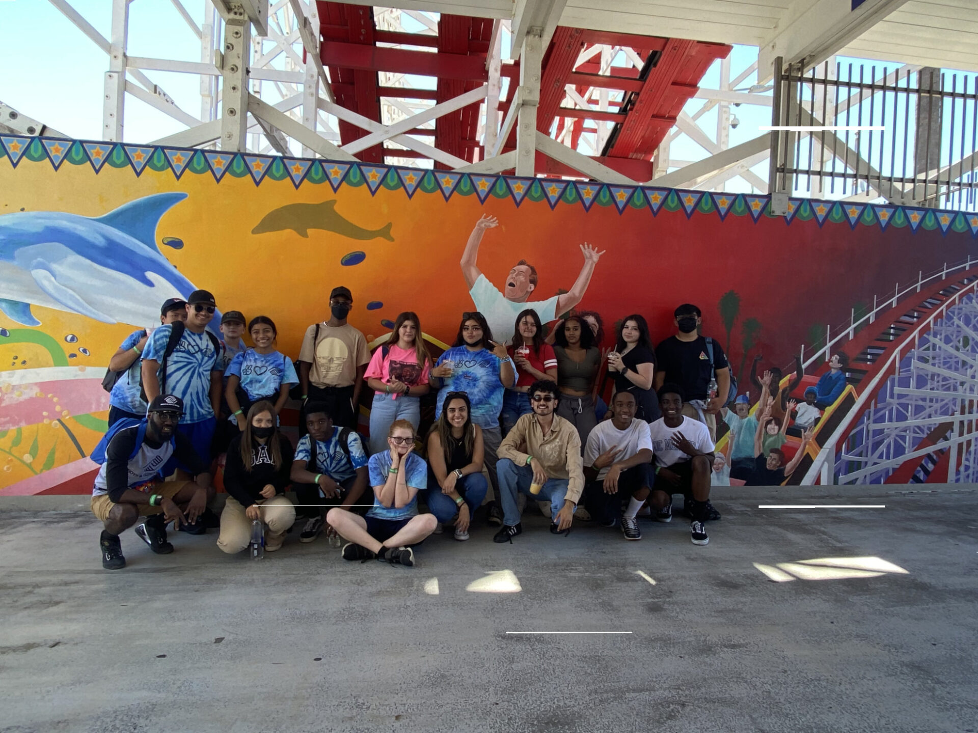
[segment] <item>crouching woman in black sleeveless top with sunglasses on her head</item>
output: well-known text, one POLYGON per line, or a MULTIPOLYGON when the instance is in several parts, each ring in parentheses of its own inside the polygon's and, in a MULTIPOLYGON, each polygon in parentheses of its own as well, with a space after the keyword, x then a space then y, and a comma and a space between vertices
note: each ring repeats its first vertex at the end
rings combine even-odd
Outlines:
POLYGON ((489 483, 482 474, 482 428, 472 422, 468 395, 449 392, 441 416, 428 434, 428 485, 425 501, 441 524, 455 517, 455 539, 468 539, 472 514, 489 483))

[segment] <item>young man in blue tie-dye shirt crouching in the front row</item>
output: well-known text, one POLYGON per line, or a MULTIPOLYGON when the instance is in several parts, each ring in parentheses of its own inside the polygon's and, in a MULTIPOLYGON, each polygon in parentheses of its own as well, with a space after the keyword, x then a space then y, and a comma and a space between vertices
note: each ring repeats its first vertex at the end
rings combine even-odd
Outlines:
POLYGON ((349 428, 333 425, 333 409, 316 401, 307 402, 303 409, 308 433, 295 447, 289 476, 299 514, 306 520, 300 542, 311 542, 323 531, 321 506, 356 506, 367 490, 363 441, 349 428))

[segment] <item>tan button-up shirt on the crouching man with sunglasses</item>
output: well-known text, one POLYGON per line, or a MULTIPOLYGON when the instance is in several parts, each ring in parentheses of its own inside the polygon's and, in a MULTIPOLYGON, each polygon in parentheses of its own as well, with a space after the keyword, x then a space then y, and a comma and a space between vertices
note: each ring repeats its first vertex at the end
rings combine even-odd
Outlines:
POLYGON ((532 455, 539 460, 552 479, 567 479, 566 499, 575 504, 584 491, 584 462, 581 460, 581 436, 577 428, 559 415, 544 435, 537 415, 524 414, 503 439, 497 452, 501 458, 509 458, 517 466, 526 465, 532 455))

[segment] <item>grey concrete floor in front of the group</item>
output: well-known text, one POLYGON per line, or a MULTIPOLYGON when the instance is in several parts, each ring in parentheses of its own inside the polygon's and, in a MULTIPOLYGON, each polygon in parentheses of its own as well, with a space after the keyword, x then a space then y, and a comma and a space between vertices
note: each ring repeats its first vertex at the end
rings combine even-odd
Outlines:
POLYGON ((8 504, 0 730, 978 731, 974 488, 772 496, 826 498, 730 490, 706 547, 680 518, 627 542, 531 517, 512 546, 432 537, 412 569, 297 533, 261 562, 212 533, 157 557, 128 532, 114 573, 91 514, 8 504), (908 573, 753 565, 867 556, 908 573), (467 590, 505 570, 521 590, 467 590))

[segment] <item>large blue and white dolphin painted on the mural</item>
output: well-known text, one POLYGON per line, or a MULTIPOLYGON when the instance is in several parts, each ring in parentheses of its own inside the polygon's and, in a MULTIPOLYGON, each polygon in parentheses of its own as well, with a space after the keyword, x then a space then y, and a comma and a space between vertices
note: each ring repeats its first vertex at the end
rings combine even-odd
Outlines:
MULTIPOLYGON (((184 193, 154 194, 89 218, 61 211, 0 216, 0 311, 39 325, 30 306, 102 323, 159 323, 167 298, 196 288, 156 247, 156 225, 184 193)), ((220 323, 215 314, 214 323, 220 323)))

